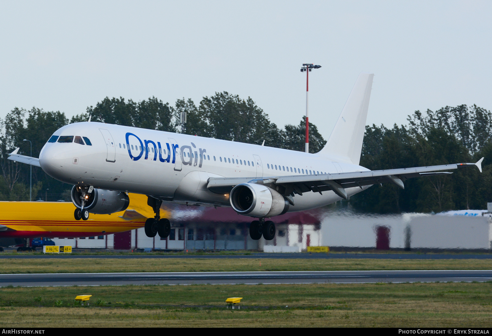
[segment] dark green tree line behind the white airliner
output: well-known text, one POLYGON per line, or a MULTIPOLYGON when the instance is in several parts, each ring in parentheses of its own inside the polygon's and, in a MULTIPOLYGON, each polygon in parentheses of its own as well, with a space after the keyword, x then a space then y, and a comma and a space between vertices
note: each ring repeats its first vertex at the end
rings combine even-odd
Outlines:
MULTIPOLYGON (((151 97, 140 102, 106 97, 86 112, 70 120, 63 112, 15 108, 0 119, 0 200, 29 200, 29 166, 7 160, 16 147, 32 156, 50 136, 68 123, 100 121, 168 132, 212 137, 222 140, 261 144, 304 151, 306 119, 298 125, 279 128, 251 98, 242 99, 228 92, 203 97, 199 104, 178 99, 174 105, 151 97), (180 115, 187 122, 181 128, 180 115)), ((406 125, 366 126, 361 166, 371 170, 476 162, 485 157, 483 173, 474 167, 453 170, 449 175, 421 177, 405 181, 401 190, 392 184, 376 185, 363 193, 338 202, 337 206, 369 213, 441 212, 458 209, 484 209, 492 201, 492 114, 473 106, 446 106, 437 111, 416 111, 406 125)), ((318 152, 326 143, 309 123, 309 151, 318 152)), ((69 200, 70 185, 32 169, 33 199, 69 200)))

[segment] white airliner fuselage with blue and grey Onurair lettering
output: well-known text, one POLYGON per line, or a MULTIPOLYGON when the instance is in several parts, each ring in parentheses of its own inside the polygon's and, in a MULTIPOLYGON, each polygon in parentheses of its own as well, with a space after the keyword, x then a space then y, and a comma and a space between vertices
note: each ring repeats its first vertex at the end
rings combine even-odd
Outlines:
MULTIPOLYGON (((41 150, 39 164, 55 179, 195 205, 230 206, 228 194, 207 189, 209 177, 254 179, 369 170, 335 157, 98 122, 66 125, 52 139, 55 142, 47 142, 41 150)), ((352 196, 362 190, 346 192, 352 196)), ((308 192, 296 195, 289 211, 340 199, 333 191, 308 192)))

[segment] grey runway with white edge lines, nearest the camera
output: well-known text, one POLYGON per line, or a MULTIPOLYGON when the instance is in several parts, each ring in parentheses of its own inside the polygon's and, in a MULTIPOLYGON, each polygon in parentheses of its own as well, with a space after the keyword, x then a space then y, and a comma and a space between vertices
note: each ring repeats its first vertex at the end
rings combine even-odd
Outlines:
POLYGON ((301 271, 3 274, 0 286, 94 286, 144 284, 257 284, 491 281, 487 271, 301 271))

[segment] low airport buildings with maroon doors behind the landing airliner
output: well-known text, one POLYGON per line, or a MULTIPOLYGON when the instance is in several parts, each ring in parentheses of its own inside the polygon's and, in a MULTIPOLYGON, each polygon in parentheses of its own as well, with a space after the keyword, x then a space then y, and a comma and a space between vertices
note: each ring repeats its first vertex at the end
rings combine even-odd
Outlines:
POLYGON ((491 214, 486 210, 442 214, 366 215, 313 210, 274 218, 274 240, 249 237, 250 218, 231 208, 176 206, 171 234, 149 238, 144 228, 99 237, 54 239, 57 245, 115 250, 259 250, 301 252, 308 246, 364 249, 492 248, 491 214), (482 216, 485 213, 485 216, 482 216))

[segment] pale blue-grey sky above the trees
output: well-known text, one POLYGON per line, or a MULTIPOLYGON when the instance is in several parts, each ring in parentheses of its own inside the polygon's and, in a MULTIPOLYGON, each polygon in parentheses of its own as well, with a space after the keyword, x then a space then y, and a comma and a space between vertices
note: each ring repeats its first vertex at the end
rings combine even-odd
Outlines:
POLYGON ((328 139, 361 71, 368 124, 492 109, 492 1, 0 1, 0 117, 85 112, 104 97, 174 104, 228 91, 328 139))

